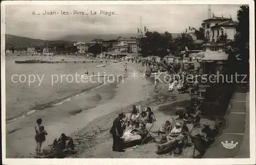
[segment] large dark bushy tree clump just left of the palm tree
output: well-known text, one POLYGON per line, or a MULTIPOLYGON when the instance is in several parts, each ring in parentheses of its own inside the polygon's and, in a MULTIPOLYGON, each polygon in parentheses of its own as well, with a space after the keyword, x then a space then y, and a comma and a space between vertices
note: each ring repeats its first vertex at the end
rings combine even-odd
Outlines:
POLYGON ((159 56, 164 57, 168 55, 167 49, 172 49, 172 34, 164 32, 146 32, 145 37, 138 40, 139 52, 143 57, 159 56))

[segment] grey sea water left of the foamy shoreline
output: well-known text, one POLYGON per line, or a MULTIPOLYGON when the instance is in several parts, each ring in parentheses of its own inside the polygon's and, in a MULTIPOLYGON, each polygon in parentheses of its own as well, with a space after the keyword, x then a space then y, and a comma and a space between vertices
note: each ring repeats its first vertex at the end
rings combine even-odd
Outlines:
MULTIPOLYGON (((92 81, 96 82, 90 82, 90 79, 87 80, 89 82, 82 82, 79 75, 77 80, 75 79, 76 74, 81 75, 88 70, 89 74, 106 72, 116 75, 119 69, 115 68, 115 65, 94 67, 99 63, 15 64, 15 60, 28 59, 41 60, 41 57, 6 57, 6 122, 25 118, 37 111, 43 111, 46 107, 60 105, 102 85, 103 77, 91 78, 92 81), (14 75, 13 80, 11 79, 12 75, 14 75), (24 75, 27 78, 26 81, 24 75), (29 84, 29 75, 31 75, 32 80, 32 75, 35 75, 35 82, 29 84), (37 77, 42 79, 41 84, 37 77), (58 82, 56 82, 57 77, 58 82), (19 80, 22 82, 16 82, 19 80)), ((44 58, 43 60, 48 59, 44 58)), ((78 61, 63 57, 55 58, 53 61, 61 59, 78 61)))

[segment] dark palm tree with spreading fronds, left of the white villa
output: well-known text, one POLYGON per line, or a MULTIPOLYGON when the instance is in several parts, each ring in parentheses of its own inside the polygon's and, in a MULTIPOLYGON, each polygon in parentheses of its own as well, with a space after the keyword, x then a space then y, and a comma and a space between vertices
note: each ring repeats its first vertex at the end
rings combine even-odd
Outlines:
POLYGON ((181 50, 185 50, 185 47, 191 48, 195 45, 195 42, 189 34, 183 32, 175 39, 174 46, 180 47, 181 50))

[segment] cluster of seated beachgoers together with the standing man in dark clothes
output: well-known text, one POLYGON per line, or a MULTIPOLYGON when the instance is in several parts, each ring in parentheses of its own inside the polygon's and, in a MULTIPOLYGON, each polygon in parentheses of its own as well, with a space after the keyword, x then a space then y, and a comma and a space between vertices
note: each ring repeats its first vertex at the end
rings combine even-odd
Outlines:
POLYGON ((114 120, 110 133, 113 135, 113 151, 124 152, 123 142, 143 140, 147 135, 146 124, 156 121, 150 107, 146 111, 139 112, 133 105, 131 112, 121 113, 114 120))

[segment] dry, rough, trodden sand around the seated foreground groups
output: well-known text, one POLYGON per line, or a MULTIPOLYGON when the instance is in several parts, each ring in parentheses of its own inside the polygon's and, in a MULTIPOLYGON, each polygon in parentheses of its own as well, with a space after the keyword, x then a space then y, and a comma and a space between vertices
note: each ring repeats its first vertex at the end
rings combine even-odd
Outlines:
MULTIPOLYGON (((142 69, 139 67, 138 69, 142 69)), ((142 80, 143 81, 143 80, 142 80)), ((149 95, 144 99, 137 97, 137 101, 128 105, 120 106, 117 111, 108 115, 99 117, 90 122, 86 127, 71 134, 75 140, 76 150, 75 155, 70 155, 69 158, 167 158, 174 157, 173 155, 157 155, 156 143, 148 143, 139 146, 136 149, 127 148, 124 153, 112 151, 112 135, 109 130, 112 126, 113 120, 118 114, 129 112, 133 105, 142 105, 145 107, 154 107, 153 112, 156 116, 156 124, 161 125, 166 120, 177 118, 175 110, 178 108, 185 108, 190 104, 189 94, 178 94, 177 91, 167 92, 168 84, 160 84, 158 88, 154 89, 154 84, 148 84, 149 95)), ((202 118, 201 124, 207 124, 211 128, 215 121, 202 118)), ((196 135, 201 131, 202 127, 196 127, 191 132, 196 135)), ((179 157, 192 157, 194 146, 186 147, 179 157)), ((195 155, 198 152, 196 151, 195 155)))

